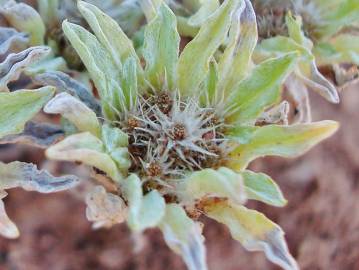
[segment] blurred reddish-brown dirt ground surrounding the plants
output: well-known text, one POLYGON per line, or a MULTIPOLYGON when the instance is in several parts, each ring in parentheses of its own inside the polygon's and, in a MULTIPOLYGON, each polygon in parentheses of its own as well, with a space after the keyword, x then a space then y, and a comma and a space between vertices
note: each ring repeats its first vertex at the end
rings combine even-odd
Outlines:
MULTIPOLYGON (((249 206, 282 226, 303 270, 359 270, 359 86, 341 98, 332 105, 312 94, 314 120, 341 123, 335 136, 298 159, 265 158, 251 166, 276 179, 289 203, 285 208, 249 206)), ((40 150, 18 146, 1 149, 0 159, 14 160, 20 150, 22 160, 41 163, 40 150)), ((21 237, 0 239, 0 269, 185 269, 157 230, 137 240, 126 225, 92 231, 81 194, 10 190, 6 206, 21 237)), ((203 221, 211 270, 278 269, 263 254, 246 252, 223 226, 203 221)))

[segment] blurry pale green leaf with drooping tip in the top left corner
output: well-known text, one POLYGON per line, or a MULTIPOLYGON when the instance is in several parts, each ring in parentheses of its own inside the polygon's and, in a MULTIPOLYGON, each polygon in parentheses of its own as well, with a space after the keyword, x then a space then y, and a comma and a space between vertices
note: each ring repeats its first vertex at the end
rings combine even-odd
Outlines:
POLYGON ((8 1, 0 7, 0 14, 12 27, 29 34, 30 45, 44 44, 45 24, 33 7, 25 3, 8 1))

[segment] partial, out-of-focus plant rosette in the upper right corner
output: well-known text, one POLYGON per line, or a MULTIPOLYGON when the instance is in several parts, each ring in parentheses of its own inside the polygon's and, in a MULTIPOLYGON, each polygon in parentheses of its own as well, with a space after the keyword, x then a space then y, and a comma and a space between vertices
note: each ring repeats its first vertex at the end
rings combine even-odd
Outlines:
POLYGON ((359 2, 258 0, 254 3, 261 37, 255 58, 261 61, 290 51, 300 52, 301 60, 287 87, 297 100, 304 100, 301 118, 310 121, 310 108, 305 105, 309 103, 307 88, 338 102, 336 88, 343 89, 358 78, 359 2))

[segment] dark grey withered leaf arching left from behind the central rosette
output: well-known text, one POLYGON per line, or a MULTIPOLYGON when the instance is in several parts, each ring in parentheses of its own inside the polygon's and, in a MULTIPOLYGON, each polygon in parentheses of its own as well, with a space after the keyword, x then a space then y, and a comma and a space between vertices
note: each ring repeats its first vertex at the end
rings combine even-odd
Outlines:
POLYGON ((54 86, 59 92, 67 92, 79 98, 87 107, 93 110, 97 116, 101 116, 101 106, 98 104, 96 98, 83 84, 71 78, 66 73, 48 71, 37 75, 34 81, 39 84, 54 86))

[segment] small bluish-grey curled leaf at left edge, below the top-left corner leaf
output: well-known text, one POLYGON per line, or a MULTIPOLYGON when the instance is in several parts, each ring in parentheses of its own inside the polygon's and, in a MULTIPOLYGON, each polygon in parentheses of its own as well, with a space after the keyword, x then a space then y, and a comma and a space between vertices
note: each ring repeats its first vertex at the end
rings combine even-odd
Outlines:
POLYGON ((16 52, 26 48, 29 39, 25 33, 14 28, 0 27, 0 55, 9 51, 16 52))

